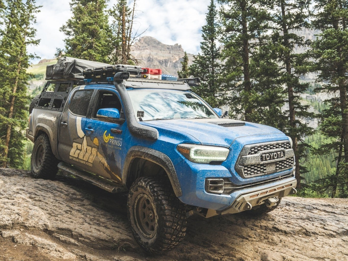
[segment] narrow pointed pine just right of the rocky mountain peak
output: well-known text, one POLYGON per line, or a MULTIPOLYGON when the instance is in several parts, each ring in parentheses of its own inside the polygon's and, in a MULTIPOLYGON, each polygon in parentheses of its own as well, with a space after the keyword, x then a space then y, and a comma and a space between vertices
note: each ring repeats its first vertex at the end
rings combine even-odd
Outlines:
POLYGON ((220 50, 216 45, 220 29, 216 19, 216 6, 214 0, 211 0, 206 15, 206 25, 202 27, 201 53, 193 57, 193 64, 190 66, 190 74, 201 80, 198 87, 192 87, 193 91, 204 98, 212 107, 223 105, 218 80, 221 68, 220 50))

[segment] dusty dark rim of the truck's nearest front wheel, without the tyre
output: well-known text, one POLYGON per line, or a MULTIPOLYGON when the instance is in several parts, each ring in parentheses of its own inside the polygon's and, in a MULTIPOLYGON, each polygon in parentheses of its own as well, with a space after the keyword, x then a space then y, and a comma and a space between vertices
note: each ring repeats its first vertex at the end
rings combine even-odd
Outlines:
POLYGON ((135 199, 134 217, 137 228, 146 238, 152 238, 157 232, 157 214, 152 200, 146 194, 140 194, 135 199))

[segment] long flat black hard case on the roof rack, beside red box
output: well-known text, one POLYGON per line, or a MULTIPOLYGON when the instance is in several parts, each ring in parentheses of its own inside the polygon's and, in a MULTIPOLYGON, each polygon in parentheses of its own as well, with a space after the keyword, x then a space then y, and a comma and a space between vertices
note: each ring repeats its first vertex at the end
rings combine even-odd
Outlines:
POLYGON ((113 77, 117 72, 129 72, 130 77, 140 77, 142 71, 141 66, 115 64, 85 69, 84 77, 85 79, 105 79, 113 77))

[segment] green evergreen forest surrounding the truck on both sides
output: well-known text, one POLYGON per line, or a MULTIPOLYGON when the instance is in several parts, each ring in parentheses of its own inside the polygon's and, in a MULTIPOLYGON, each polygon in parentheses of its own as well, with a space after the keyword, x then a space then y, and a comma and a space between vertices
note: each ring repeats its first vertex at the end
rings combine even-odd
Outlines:
MULTIPOLYGON (((37 58, 27 49, 40 45, 40 8, 35 0, 0 0, 1 167, 30 167, 28 107, 42 87, 29 93, 27 86, 45 76, 27 73, 37 58)), ((131 53, 143 33, 134 30, 136 0, 111 8, 108 0, 73 0, 70 8, 56 57, 139 63, 131 53)), ((211 0, 207 10, 200 51, 191 63, 185 53, 179 77, 200 77, 193 91, 228 117, 290 136, 298 195, 347 198, 348 1, 211 0), (315 39, 298 33, 304 29, 316 30, 315 39)))

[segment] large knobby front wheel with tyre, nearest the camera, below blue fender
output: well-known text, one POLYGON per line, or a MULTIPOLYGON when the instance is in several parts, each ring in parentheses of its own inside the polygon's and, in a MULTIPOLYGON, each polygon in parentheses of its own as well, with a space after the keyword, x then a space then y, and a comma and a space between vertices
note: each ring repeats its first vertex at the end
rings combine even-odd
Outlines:
POLYGON ((186 234, 186 212, 169 180, 140 177, 130 187, 128 219, 144 251, 159 254, 178 246, 186 234))

